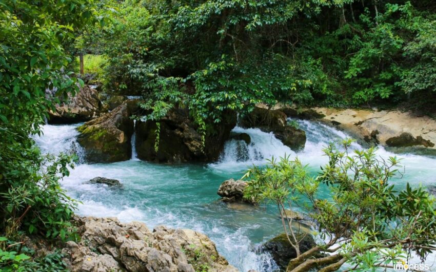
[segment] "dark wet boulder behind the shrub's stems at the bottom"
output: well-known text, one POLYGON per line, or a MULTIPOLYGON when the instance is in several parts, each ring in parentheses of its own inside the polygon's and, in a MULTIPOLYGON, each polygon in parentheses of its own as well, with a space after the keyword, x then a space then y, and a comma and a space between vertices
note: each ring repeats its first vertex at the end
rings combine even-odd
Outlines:
MULTIPOLYGON (((300 240, 299 249, 301 253, 316 245, 315 240, 308 233, 300 233, 296 237, 300 240)), ((289 243, 284 233, 264 243, 261 251, 268 252, 281 271, 286 271, 289 261, 297 257, 295 248, 289 243)))

